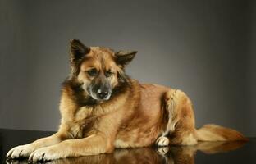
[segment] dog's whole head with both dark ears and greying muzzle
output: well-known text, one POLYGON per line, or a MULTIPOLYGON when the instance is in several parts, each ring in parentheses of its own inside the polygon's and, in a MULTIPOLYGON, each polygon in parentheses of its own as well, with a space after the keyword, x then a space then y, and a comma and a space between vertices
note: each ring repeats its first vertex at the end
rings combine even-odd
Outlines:
POLYGON ((125 66, 136 52, 114 52, 110 48, 86 47, 71 41, 71 76, 89 97, 97 101, 111 98, 112 91, 126 78, 125 66))

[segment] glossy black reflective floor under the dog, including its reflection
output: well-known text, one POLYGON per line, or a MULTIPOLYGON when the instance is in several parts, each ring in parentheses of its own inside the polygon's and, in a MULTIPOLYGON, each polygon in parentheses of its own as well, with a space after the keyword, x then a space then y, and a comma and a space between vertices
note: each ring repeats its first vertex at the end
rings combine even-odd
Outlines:
MULTIPOLYGON (((7 151, 20 144, 27 144, 34 139, 53 134, 53 132, 29 130, 0 130, 0 162, 27 163, 27 161, 6 161, 7 151)), ((170 163, 170 164, 221 164, 221 163, 256 163, 256 139, 248 143, 212 142, 199 143, 195 146, 169 148, 130 148, 117 149, 111 154, 98 156, 66 158, 47 162, 48 164, 75 163, 170 163)))

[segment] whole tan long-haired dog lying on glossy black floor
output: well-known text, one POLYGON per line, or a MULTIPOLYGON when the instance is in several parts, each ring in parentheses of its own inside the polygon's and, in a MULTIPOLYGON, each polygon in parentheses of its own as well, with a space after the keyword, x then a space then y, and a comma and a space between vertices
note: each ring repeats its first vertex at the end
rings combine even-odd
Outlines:
POLYGON ((73 40, 58 132, 12 148, 7 157, 40 161, 111 153, 114 148, 245 139, 218 125, 195 130, 194 112, 185 93, 131 80, 124 70, 135 53, 87 48, 73 40))

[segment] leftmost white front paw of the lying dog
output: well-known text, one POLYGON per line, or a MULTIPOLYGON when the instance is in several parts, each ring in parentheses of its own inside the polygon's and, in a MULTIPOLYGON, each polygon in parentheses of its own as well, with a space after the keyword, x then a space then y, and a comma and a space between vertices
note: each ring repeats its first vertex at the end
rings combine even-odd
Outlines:
POLYGON ((29 157, 30 153, 34 151, 33 146, 30 144, 25 144, 21 146, 17 146, 15 148, 11 148, 11 150, 7 153, 7 158, 19 158, 19 157, 29 157))

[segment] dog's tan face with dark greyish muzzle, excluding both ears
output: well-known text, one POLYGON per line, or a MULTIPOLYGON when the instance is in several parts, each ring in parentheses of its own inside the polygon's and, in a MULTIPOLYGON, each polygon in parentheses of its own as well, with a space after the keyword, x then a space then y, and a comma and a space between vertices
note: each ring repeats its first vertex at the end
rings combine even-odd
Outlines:
POLYGON ((80 65, 78 80, 82 88, 94 100, 106 101, 111 98, 117 85, 117 71, 120 69, 110 52, 92 48, 80 65))

